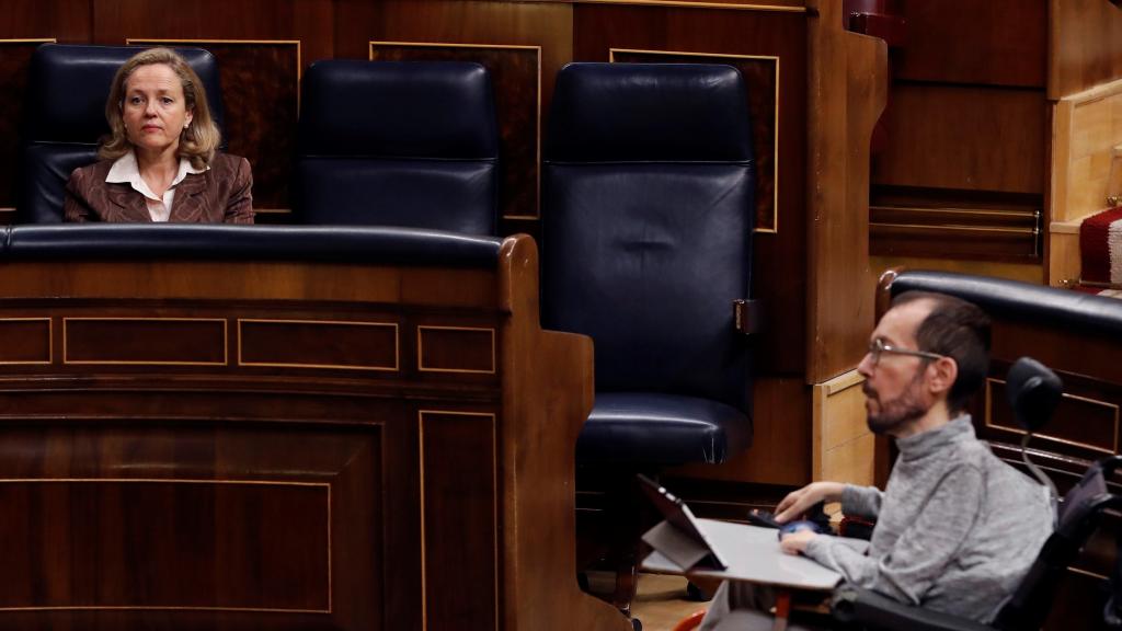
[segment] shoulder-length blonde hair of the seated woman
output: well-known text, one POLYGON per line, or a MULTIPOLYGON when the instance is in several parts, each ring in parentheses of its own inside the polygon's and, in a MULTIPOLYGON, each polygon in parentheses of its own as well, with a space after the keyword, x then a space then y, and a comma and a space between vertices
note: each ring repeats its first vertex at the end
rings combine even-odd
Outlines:
POLYGON ((183 85, 184 104, 187 111, 192 112, 191 125, 180 132, 178 156, 191 161, 195 168, 205 168, 214 157, 214 150, 222 141, 222 132, 211 118, 210 106, 206 103, 206 89, 203 82, 191 70, 187 62, 178 53, 171 48, 148 48, 132 55, 117 70, 113 76, 113 84, 109 90, 109 100, 105 101, 105 120, 109 121, 110 135, 102 139, 98 157, 102 159, 117 159, 132 149, 128 132, 125 129, 125 119, 121 108, 125 104, 125 84, 128 83, 132 72, 151 64, 164 64, 175 72, 183 85))

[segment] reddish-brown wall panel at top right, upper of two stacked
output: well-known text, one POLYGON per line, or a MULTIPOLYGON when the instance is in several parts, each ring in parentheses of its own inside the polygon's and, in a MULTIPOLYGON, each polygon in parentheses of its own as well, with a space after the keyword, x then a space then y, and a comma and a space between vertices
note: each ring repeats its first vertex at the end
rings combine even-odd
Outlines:
POLYGON ((896 79, 1045 88, 1048 0, 901 4, 907 38, 892 57, 896 79))

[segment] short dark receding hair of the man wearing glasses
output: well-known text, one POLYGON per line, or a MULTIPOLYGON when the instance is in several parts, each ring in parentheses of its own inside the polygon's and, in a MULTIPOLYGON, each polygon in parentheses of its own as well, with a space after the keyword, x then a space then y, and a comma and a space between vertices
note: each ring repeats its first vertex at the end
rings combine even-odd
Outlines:
POLYGON ((910 291, 892 300, 892 307, 926 300, 931 312, 916 328, 919 350, 950 357, 958 377, 947 393, 951 413, 965 412, 990 372, 990 317, 976 304, 953 295, 910 291))

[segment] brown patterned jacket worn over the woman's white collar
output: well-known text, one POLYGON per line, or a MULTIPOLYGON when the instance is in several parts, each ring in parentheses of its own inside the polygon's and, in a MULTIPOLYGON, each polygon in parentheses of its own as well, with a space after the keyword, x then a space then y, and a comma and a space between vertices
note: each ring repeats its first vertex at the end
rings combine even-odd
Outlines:
MULTIPOLYGON (((145 198, 129 184, 105 182, 111 159, 74 170, 66 183, 65 221, 151 221, 145 198)), ((254 176, 243 157, 214 154, 210 170, 175 186, 169 222, 252 223, 254 176)))

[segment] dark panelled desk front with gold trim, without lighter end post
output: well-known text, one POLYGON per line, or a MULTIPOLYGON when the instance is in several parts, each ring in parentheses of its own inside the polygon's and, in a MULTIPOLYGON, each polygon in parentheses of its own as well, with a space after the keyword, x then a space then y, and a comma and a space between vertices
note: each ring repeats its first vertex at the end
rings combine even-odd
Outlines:
POLYGON ((497 313, 0 309, 0 628, 498 629, 497 313))

